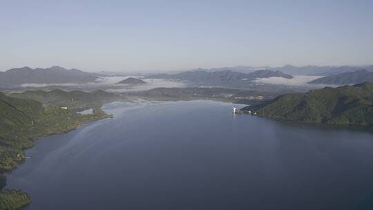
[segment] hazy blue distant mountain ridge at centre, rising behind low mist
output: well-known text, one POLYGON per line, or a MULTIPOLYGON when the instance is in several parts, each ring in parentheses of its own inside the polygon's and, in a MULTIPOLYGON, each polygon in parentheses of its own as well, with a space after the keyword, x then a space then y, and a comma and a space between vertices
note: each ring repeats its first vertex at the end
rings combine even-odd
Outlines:
POLYGON ((153 79, 178 79, 191 82, 198 86, 224 86, 224 87, 245 87, 252 85, 256 78, 283 77, 293 78, 291 75, 282 73, 280 70, 256 70, 252 73, 238 73, 232 70, 221 70, 207 72, 204 70, 187 71, 177 74, 151 75, 153 79))

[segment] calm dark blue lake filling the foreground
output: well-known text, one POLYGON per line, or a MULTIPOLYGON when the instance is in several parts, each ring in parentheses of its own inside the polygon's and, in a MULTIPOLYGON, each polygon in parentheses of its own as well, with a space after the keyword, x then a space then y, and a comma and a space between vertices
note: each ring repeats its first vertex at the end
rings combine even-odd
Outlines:
POLYGON ((373 209, 372 131, 231 108, 106 104, 113 119, 38 140, 6 188, 28 210, 373 209))

